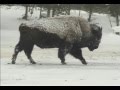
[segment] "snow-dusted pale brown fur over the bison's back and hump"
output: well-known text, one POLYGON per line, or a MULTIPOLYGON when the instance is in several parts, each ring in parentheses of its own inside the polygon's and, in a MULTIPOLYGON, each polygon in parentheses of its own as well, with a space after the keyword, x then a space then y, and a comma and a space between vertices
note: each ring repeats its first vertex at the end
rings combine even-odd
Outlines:
MULTIPOLYGON (((88 22, 80 17, 61 16, 40 19, 28 23, 22 23, 21 27, 37 29, 46 33, 58 35, 68 41, 81 40, 82 33, 90 31, 88 22)), ((28 29, 28 31, 30 30, 28 29)))

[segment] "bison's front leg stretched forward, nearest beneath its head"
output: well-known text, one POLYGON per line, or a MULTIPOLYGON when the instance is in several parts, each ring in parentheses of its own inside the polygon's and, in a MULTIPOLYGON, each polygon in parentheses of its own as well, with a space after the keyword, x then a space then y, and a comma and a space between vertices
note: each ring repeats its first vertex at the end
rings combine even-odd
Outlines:
POLYGON ((72 56, 74 56, 75 58, 78 58, 81 60, 82 64, 85 64, 87 65, 87 62, 85 61, 85 59, 83 58, 83 55, 82 55, 82 50, 79 49, 79 48, 76 48, 76 47, 73 47, 70 51, 70 54, 72 56))

